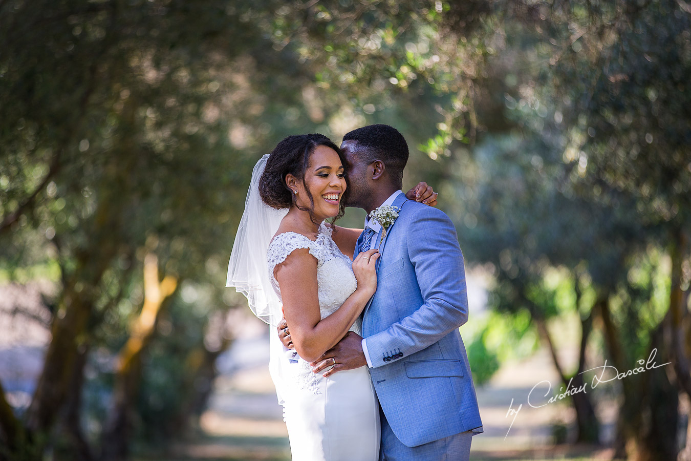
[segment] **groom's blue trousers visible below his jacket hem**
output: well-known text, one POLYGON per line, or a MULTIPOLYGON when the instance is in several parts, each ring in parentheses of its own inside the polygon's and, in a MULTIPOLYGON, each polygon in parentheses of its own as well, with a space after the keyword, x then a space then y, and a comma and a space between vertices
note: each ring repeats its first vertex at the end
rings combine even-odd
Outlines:
POLYGON ((379 419, 381 420, 379 461, 468 461, 470 459, 473 431, 410 447, 398 440, 381 407, 379 419))

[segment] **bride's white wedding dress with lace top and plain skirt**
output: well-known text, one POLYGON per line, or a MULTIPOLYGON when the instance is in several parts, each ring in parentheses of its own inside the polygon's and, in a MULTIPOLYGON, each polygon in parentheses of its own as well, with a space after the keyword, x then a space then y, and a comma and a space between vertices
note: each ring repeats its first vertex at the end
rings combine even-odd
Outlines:
MULTIPOLYGON (((357 288, 352 263, 331 238, 325 223, 316 241, 295 232, 278 234, 269 244, 269 278, 281 298, 274 267, 294 250, 306 248, 317 261, 321 318, 328 317, 357 288)), ((361 334, 358 319, 350 328, 361 334)), ((379 458, 379 403, 367 366, 334 373, 312 373, 294 351, 283 360, 284 416, 296 461, 368 461, 379 458)))

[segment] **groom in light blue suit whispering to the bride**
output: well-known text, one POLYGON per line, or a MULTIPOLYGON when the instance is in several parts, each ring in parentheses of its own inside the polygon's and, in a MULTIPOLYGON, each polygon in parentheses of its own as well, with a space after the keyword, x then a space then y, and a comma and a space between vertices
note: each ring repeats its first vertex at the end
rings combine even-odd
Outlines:
POLYGON ((380 460, 468 460, 482 422, 458 331, 468 320, 468 299, 453 223, 400 190, 408 144, 396 129, 350 131, 341 149, 347 205, 368 215, 393 205, 399 215, 385 234, 367 218, 353 255, 370 247, 381 254, 377 292, 363 312, 364 339, 348 333, 313 366, 319 372, 336 363, 325 376, 370 367, 381 406, 380 460))

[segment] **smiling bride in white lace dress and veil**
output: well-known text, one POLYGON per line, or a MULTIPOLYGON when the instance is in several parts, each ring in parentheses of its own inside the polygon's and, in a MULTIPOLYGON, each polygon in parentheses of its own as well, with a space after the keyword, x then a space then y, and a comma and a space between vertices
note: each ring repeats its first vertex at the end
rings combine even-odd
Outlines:
POLYGON ((323 377, 310 366, 348 331, 361 334, 359 315, 377 288, 378 250, 351 262, 345 254, 353 254, 361 230, 325 221, 343 216, 345 164, 324 135, 279 142, 254 168, 229 263, 227 286, 247 296, 257 317, 276 327, 285 315, 290 325, 294 350, 269 335, 269 370, 294 460, 379 458, 368 368, 323 377))

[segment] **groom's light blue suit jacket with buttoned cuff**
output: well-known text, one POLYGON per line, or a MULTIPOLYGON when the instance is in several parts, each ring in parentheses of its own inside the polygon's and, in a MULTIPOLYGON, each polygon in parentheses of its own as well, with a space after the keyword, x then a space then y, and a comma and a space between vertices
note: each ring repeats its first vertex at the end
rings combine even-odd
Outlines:
MULTIPOLYGON (((443 211, 399 194, 363 314, 379 404, 406 446, 482 426, 458 328, 468 320, 463 255, 443 211)), ((372 247, 379 243, 372 241, 372 247)), ((360 241, 356 246, 357 256, 360 241)))

